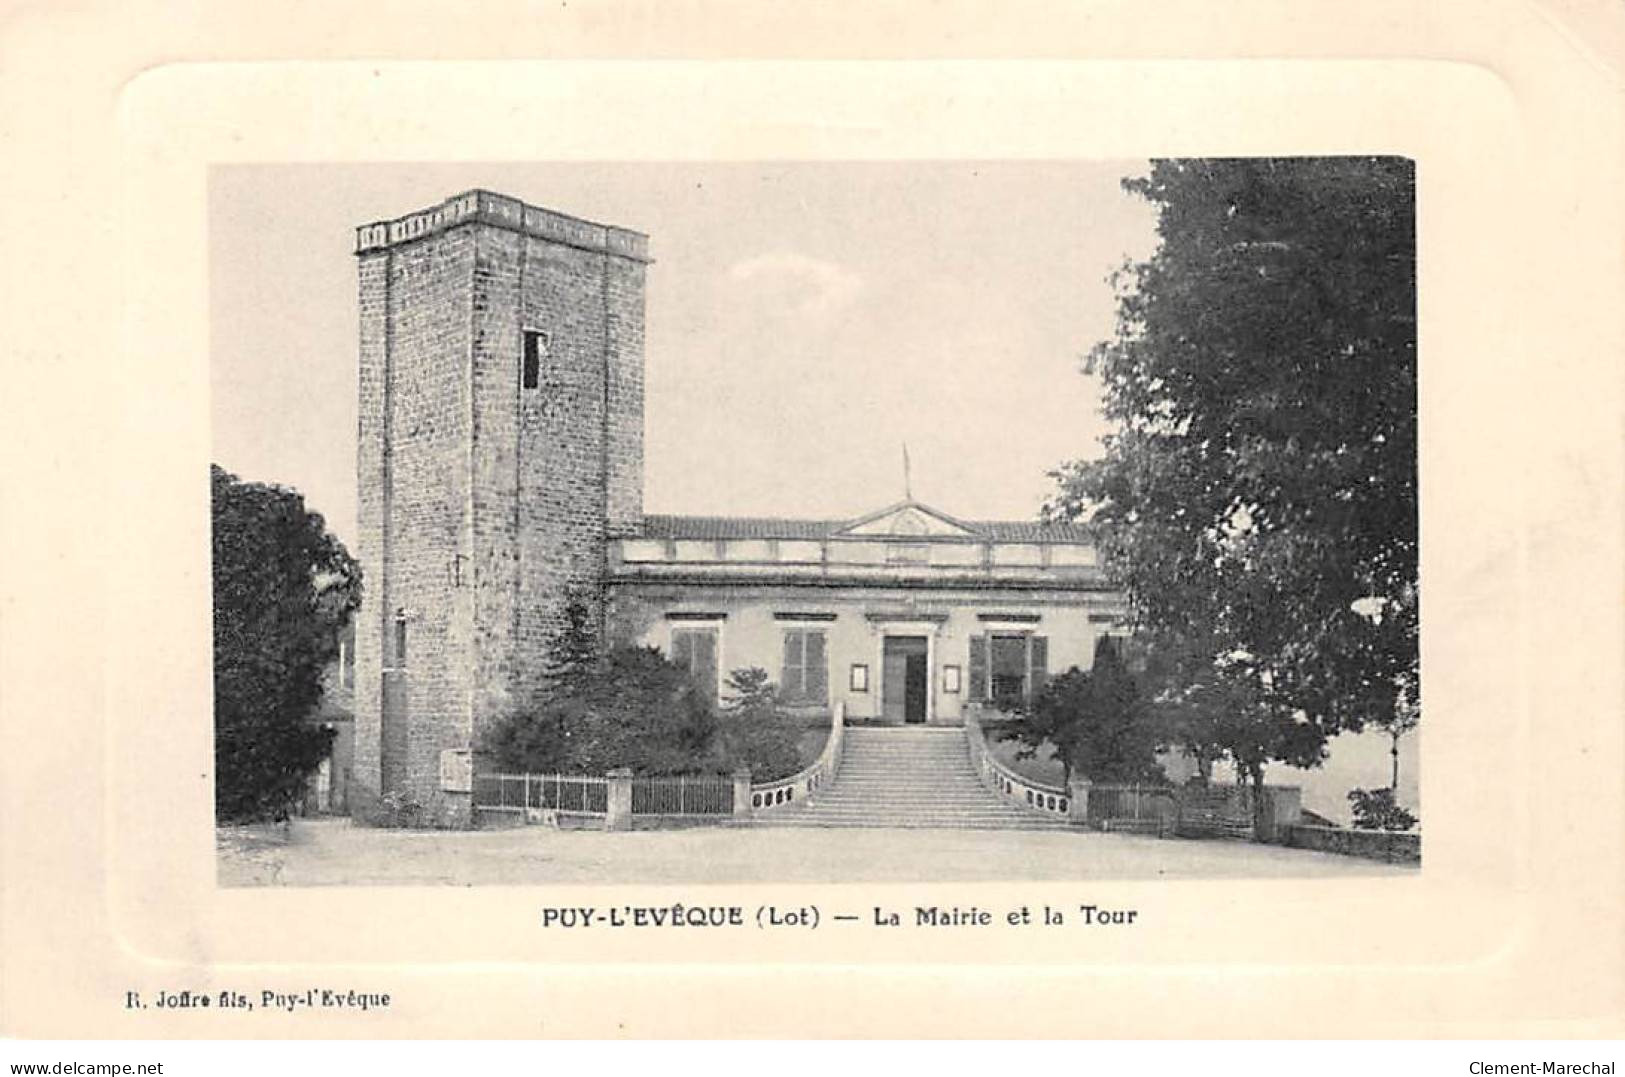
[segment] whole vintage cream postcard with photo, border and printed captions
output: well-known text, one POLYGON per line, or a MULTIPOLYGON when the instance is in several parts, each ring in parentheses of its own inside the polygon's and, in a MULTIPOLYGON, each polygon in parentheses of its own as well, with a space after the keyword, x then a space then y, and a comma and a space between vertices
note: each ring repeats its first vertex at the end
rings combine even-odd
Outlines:
POLYGON ((1618 1035, 1618 122, 1349 23, 132 71, 5 1032, 1618 1035))

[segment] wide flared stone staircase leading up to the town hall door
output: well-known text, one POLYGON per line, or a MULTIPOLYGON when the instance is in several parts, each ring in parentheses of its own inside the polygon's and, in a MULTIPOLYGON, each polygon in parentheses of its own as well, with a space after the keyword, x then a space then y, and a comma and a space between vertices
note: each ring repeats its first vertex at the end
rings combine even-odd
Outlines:
POLYGON ((970 767, 959 728, 848 726, 835 781, 808 804, 759 814, 759 827, 946 827, 1064 830, 1066 820, 1009 804, 970 767))

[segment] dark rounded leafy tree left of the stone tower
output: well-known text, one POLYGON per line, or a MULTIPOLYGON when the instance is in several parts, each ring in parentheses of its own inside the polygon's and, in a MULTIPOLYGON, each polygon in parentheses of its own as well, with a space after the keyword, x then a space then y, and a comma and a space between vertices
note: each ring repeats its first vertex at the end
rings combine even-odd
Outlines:
POLYGON ((361 604, 361 569, 297 492, 210 466, 214 812, 286 819, 328 752, 307 721, 361 604))

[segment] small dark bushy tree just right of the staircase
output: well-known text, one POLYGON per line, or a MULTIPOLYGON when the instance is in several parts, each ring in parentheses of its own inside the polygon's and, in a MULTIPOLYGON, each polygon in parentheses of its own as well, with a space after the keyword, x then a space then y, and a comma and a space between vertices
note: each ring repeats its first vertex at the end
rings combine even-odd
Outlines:
POLYGON ((1051 677, 1027 712, 999 729, 1003 739, 1022 744, 1032 757, 1042 746, 1055 749, 1066 780, 1081 773, 1090 781, 1160 781, 1155 760, 1159 729, 1118 645, 1100 637, 1094 666, 1072 666, 1051 677))

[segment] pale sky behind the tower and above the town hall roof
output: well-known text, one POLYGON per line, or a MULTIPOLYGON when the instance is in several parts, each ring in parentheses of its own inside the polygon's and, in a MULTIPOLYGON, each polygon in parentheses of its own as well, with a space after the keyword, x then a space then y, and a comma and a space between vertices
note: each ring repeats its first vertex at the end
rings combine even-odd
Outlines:
POLYGON ((647 512, 1030 518, 1097 455, 1144 161, 275 164, 210 174, 214 463, 351 547, 358 224, 484 187, 650 236, 647 512))

